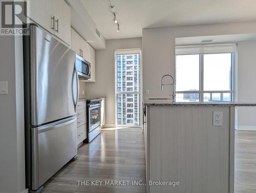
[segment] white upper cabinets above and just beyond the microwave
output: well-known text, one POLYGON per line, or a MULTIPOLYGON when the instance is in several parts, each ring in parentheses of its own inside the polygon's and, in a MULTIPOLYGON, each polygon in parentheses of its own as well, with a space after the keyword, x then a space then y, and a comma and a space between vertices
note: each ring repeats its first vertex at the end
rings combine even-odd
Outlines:
POLYGON ((95 50, 73 28, 71 28, 71 49, 91 63, 91 78, 81 81, 95 82, 95 50))

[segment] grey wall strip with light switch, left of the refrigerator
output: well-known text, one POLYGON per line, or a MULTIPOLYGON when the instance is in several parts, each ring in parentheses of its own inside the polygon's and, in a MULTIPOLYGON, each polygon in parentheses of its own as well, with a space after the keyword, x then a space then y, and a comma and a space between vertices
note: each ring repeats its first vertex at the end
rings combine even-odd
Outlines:
POLYGON ((0 35, 0 192, 25 192, 24 91, 22 36, 0 35))

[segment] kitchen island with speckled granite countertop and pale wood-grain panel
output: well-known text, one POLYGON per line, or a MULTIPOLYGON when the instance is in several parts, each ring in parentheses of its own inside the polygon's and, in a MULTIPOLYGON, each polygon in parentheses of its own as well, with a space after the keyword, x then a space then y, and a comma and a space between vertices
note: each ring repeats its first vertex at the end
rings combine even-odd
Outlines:
POLYGON ((144 99, 147 192, 233 193, 235 106, 144 99))

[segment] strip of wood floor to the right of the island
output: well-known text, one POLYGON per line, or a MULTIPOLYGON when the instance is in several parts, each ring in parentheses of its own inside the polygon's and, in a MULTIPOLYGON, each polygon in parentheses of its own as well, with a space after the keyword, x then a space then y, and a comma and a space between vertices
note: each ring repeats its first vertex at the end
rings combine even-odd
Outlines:
POLYGON ((234 192, 256 192, 256 131, 236 131, 234 192))

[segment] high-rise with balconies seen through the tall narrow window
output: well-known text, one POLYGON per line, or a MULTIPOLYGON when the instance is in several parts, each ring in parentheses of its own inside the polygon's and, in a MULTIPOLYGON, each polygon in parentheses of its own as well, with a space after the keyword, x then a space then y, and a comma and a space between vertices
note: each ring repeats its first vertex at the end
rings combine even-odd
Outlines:
POLYGON ((116 55, 118 125, 140 125, 140 54, 116 55))

